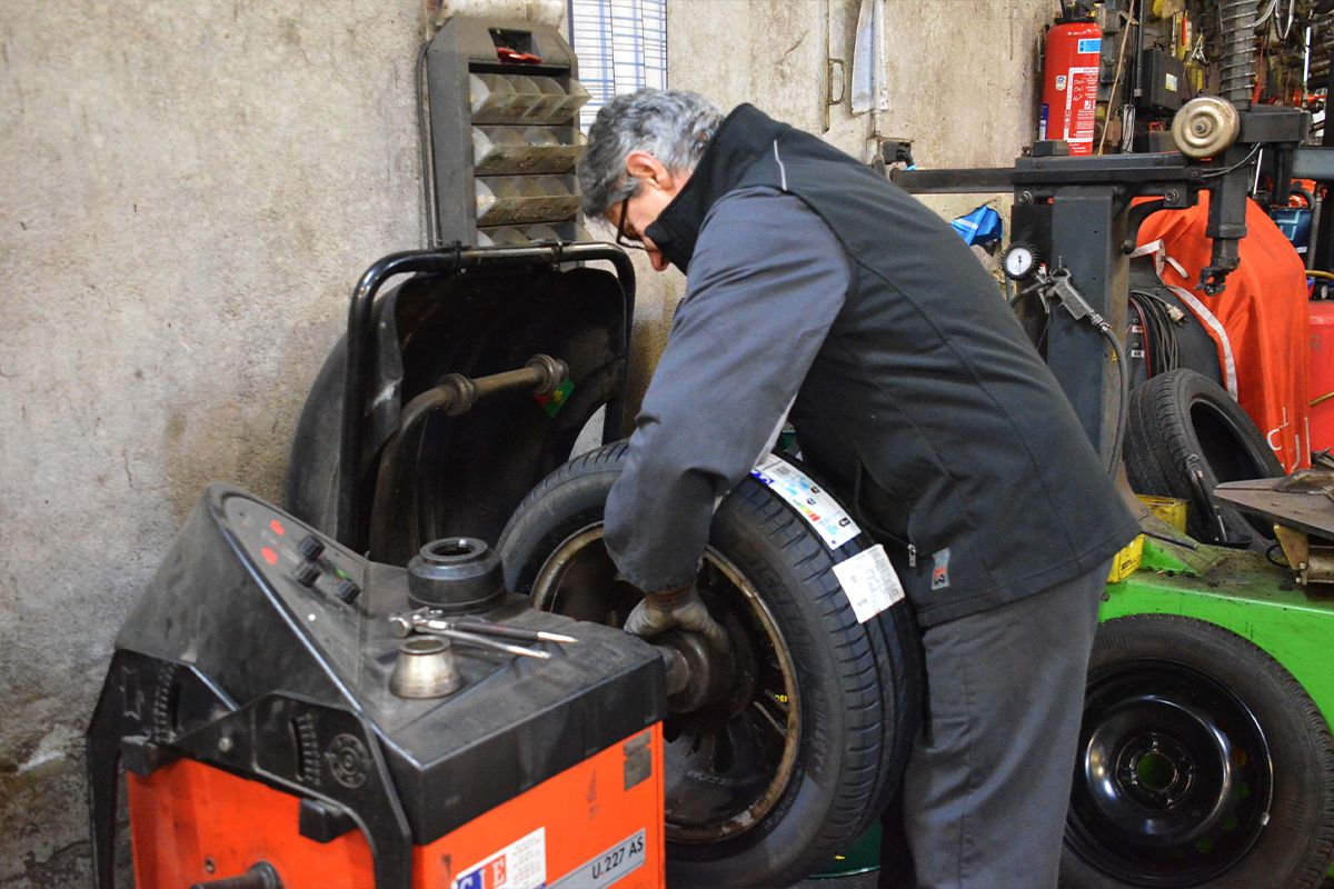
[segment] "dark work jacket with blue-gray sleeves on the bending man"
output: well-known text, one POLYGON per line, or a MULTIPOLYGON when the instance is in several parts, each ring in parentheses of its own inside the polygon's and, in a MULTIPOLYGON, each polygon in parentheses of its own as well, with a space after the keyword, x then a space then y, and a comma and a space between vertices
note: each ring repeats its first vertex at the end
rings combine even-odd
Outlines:
POLYGON ((694 574, 788 404, 923 625, 1085 574, 1137 532, 995 283, 883 176, 742 105, 646 233, 690 289, 608 500, 632 582, 694 574))

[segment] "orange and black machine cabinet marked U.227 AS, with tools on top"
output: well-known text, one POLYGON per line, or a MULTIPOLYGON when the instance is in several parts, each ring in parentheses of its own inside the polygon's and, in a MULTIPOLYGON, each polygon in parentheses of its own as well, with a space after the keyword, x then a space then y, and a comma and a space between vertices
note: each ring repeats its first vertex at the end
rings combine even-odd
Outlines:
POLYGON ((97 885, 124 769, 139 889, 660 886, 662 656, 575 625, 507 593, 482 541, 382 565, 209 488, 88 730, 97 885), (423 602, 480 632, 438 634, 423 602))

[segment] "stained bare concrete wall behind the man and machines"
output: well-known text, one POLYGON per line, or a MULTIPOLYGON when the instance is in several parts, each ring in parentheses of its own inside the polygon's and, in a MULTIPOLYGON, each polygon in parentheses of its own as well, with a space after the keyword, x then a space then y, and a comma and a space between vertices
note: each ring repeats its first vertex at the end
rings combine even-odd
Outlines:
MULTIPOLYGON (((1053 5, 888 0, 887 129, 1007 161, 1053 5)), ((355 277, 419 243, 422 7, 0 0, 5 889, 84 885, 80 736, 121 616, 208 481, 279 496, 355 277)), ((855 16, 834 0, 848 60, 855 16)), ((819 0, 674 0, 668 33, 674 85, 818 129, 819 0)), ((864 119, 832 119, 859 153, 864 119)), ((646 269, 639 387, 682 292, 646 269)))

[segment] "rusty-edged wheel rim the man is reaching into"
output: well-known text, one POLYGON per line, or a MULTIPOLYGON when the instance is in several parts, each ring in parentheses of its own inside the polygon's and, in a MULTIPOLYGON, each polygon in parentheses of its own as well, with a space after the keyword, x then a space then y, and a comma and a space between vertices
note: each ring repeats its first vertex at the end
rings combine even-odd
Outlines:
MULTIPOLYGON (((667 838, 711 844, 752 829, 792 780, 800 697, 791 653, 755 586, 716 549, 699 592, 731 640, 731 680, 699 709, 663 722, 667 838)), ((624 625, 640 593, 616 577, 602 525, 571 534, 542 565, 532 602, 580 620, 624 625)))

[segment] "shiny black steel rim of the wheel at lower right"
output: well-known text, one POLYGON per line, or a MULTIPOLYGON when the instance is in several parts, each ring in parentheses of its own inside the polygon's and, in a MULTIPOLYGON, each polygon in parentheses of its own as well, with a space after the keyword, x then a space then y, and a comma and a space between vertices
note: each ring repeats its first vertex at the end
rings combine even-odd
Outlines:
POLYGON ((1269 820, 1274 768, 1255 714, 1190 666, 1097 670, 1079 742, 1066 844, 1111 877, 1206 882, 1245 857, 1269 820))

